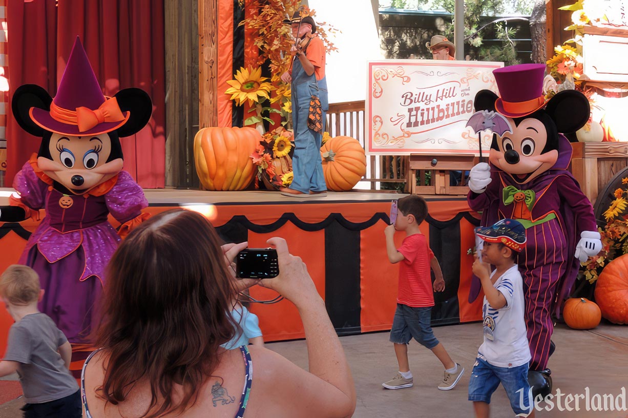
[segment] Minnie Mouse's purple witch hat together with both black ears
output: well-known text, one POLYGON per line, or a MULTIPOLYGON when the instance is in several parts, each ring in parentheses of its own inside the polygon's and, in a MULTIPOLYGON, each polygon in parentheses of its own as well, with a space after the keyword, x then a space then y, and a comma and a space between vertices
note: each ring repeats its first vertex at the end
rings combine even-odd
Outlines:
POLYGON ((57 95, 27 84, 13 96, 13 114, 19 125, 31 134, 44 131, 62 135, 99 135, 119 130, 129 136, 148 123, 152 102, 139 88, 125 88, 106 97, 77 36, 63 71, 57 95))

